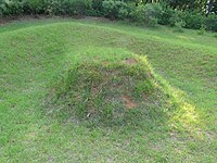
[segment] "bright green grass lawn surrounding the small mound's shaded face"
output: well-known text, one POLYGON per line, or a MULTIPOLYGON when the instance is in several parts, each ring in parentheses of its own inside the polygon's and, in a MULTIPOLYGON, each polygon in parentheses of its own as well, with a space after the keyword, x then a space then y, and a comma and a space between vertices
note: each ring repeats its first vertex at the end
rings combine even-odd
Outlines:
POLYGON ((56 18, 1 26, 0 162, 217 162, 216 34, 173 30, 56 18), (144 60, 162 93, 136 98, 141 106, 120 123, 77 120, 71 96, 49 100, 77 63, 126 58, 144 60))

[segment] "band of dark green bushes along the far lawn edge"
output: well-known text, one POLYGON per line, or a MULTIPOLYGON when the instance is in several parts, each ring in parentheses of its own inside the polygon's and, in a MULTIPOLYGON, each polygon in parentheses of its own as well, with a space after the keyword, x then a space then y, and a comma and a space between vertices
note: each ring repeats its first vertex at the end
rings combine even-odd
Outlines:
POLYGON ((105 16, 146 26, 156 24, 217 32, 216 0, 0 0, 0 15, 105 16))

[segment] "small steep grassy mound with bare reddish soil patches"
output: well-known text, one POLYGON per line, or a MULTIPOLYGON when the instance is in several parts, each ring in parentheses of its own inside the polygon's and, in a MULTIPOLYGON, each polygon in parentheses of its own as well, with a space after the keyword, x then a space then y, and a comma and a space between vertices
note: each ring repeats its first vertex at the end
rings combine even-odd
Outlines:
POLYGON ((62 104, 61 114, 69 117, 138 124, 142 116, 164 116, 163 97, 145 57, 102 49, 74 55, 52 99, 62 104))

